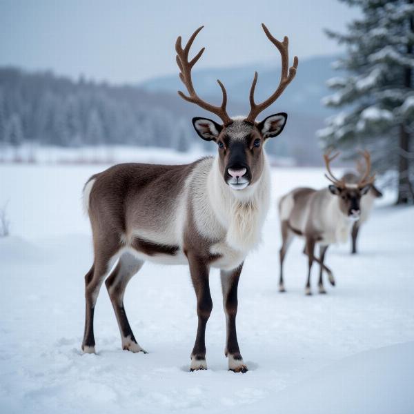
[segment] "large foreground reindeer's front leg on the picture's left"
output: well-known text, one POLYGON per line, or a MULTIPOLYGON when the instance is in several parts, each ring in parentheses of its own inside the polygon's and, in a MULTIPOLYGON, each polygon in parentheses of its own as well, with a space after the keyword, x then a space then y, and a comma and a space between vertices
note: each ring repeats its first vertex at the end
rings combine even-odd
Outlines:
POLYGON ((207 369, 206 363, 206 325, 213 309, 213 302, 210 295, 208 275, 210 268, 201 257, 188 254, 190 274, 193 280, 195 295, 197 297, 198 327, 193 352, 191 353, 190 371, 207 369))

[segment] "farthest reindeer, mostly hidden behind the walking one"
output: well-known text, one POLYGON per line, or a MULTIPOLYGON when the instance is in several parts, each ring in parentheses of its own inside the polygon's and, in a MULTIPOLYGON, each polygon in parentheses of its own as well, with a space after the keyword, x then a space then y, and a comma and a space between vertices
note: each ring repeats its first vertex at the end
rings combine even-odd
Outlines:
MULTIPOLYGON (((345 181, 347 184, 357 184, 363 174, 363 169, 362 169, 361 163, 359 162, 357 163, 357 171, 358 171, 358 174, 355 174, 354 172, 346 172, 346 174, 343 175, 342 180, 345 181)), ((371 184, 371 188, 366 194, 366 197, 364 197, 361 200, 361 216, 359 217, 359 220, 355 221, 355 223, 352 226, 352 230, 351 230, 351 237, 352 237, 351 253, 353 255, 357 253, 357 237, 359 234, 359 228, 361 228, 362 224, 365 223, 366 220, 368 220, 368 217, 371 214, 371 210, 373 209, 375 199, 381 198, 381 197, 382 197, 381 191, 378 190, 378 188, 373 183, 371 184)))

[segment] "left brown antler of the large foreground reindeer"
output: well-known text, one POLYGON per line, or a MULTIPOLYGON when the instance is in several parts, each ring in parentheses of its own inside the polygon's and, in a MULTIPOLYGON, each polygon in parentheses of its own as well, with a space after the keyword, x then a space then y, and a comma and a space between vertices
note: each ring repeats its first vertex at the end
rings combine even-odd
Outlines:
POLYGON ((184 95, 184 93, 181 92, 181 90, 178 91, 178 95, 188 102, 192 102, 198 106, 201 106, 201 108, 208 110, 208 112, 213 112, 213 114, 217 115, 217 117, 219 117, 226 126, 228 124, 231 124, 232 120, 226 112, 227 92, 226 88, 224 88, 223 83, 221 83, 219 79, 217 79, 217 83, 219 83, 221 92, 223 94, 223 100, 221 101, 221 106, 214 106, 206 101, 203 101, 198 97, 197 93, 194 90, 193 81, 191 79, 191 69, 193 69, 195 63, 198 61, 201 55, 203 55, 205 48, 202 48, 197 53, 197 55, 195 55, 195 57, 193 57, 193 59, 190 61, 188 61, 188 52, 190 52, 191 45, 193 44, 195 37, 202 28, 204 28, 204 26, 201 26, 197 30, 195 30, 195 32, 191 35, 190 39, 188 39, 188 43, 186 44, 186 47, 184 49, 181 47, 181 36, 177 38, 177 41, 175 43, 175 50, 177 52, 176 60, 180 70, 179 78, 184 83, 184 86, 186 86, 188 94, 190 96, 188 97, 184 95))

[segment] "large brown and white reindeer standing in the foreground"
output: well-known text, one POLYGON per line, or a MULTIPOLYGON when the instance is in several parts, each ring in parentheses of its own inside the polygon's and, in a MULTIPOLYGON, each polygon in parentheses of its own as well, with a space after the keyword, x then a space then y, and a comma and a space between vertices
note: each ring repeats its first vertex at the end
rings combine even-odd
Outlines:
POLYGON ((247 371, 237 343, 237 284, 246 255, 259 243, 269 205, 270 176, 264 143, 282 132, 287 115, 281 112, 261 122, 255 119, 282 95, 295 77, 298 64, 295 57, 288 68, 288 38, 277 41, 262 26, 282 56, 282 76, 273 95, 255 103, 255 73, 247 117, 228 116, 226 89, 220 81, 221 106, 207 103, 195 92, 191 70, 204 48, 191 60, 188 53, 202 27, 184 48, 181 37, 177 39, 179 77, 188 90, 188 96, 183 92, 179 95, 222 121, 217 124, 210 119, 193 119, 197 134, 217 144, 216 157, 179 166, 119 164, 93 175, 86 183, 83 199, 92 225, 95 259, 85 277, 83 352, 95 353, 93 315, 103 280, 119 324, 122 348, 139 352, 144 349, 132 333, 124 308, 126 285, 146 260, 188 264, 198 315, 190 370, 207 367, 204 335, 213 306, 208 282, 213 267, 221 270, 228 368, 247 371))

